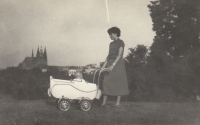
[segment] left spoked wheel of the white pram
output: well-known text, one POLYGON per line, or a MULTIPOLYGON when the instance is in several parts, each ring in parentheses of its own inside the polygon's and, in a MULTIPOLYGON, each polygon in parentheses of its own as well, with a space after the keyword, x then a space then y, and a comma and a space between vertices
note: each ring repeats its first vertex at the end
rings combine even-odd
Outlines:
POLYGON ((61 111, 67 111, 71 107, 70 100, 68 99, 61 99, 58 103, 59 109, 61 111))

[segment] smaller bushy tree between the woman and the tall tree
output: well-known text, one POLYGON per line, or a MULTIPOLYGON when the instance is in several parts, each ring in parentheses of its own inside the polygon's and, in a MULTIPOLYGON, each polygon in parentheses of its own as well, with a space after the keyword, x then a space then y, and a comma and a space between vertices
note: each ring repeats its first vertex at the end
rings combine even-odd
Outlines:
POLYGON ((142 98, 146 94, 146 88, 148 88, 144 75, 147 52, 146 46, 137 45, 135 48, 129 49, 129 54, 125 58, 128 60, 128 63, 125 64, 130 89, 129 100, 131 101, 142 98))

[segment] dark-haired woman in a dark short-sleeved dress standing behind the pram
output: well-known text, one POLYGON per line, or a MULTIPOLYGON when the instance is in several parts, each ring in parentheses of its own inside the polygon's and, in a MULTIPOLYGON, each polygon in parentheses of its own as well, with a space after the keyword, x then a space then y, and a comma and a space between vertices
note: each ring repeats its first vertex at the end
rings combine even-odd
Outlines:
POLYGON ((121 31, 117 27, 108 29, 111 40, 109 54, 105 60, 102 69, 105 76, 103 80, 103 103, 101 107, 106 107, 107 95, 117 96, 115 104, 116 108, 120 107, 120 99, 122 95, 128 95, 128 82, 126 77, 126 69, 123 60, 124 42, 119 38, 121 31))

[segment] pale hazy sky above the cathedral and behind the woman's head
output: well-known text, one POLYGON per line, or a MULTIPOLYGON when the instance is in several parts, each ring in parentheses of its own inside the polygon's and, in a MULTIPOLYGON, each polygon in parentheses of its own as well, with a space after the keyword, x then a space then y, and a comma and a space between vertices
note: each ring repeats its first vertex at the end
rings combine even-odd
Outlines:
POLYGON ((48 65, 85 66, 104 62, 112 40, 110 27, 121 30, 128 48, 151 46, 155 33, 150 0, 1 0, 0 68, 18 66, 46 47, 48 65), (108 21, 109 15, 109 21, 108 21))

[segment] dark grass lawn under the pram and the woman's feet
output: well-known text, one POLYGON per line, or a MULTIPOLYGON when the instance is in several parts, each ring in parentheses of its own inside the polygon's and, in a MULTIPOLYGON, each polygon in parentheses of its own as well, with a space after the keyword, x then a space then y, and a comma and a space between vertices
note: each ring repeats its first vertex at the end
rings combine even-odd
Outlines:
POLYGON ((120 109, 98 107, 88 112, 71 107, 63 112, 55 100, 18 101, 0 95, 0 125, 199 125, 198 103, 123 102, 120 109))

